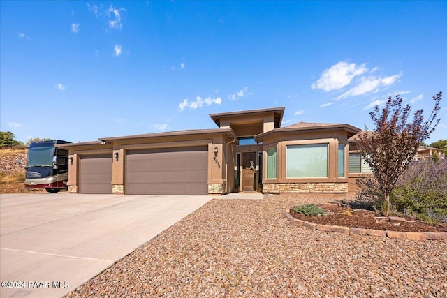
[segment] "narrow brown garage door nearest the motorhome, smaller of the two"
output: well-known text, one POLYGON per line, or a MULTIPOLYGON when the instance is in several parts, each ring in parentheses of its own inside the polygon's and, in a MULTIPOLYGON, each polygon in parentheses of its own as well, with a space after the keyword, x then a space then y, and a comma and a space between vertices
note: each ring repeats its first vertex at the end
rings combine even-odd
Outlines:
POLYGON ((112 154, 82 156, 80 193, 112 193, 112 154))

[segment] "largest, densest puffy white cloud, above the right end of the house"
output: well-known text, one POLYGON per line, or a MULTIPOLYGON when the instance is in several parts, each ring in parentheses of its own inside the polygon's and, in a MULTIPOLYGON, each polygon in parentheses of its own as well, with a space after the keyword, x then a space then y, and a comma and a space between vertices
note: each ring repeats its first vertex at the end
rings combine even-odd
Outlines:
POLYGON ((355 63, 348 64, 341 61, 330 68, 323 71, 321 77, 312 83, 312 89, 322 89, 326 92, 332 90, 339 90, 351 84, 354 77, 366 73, 368 68, 365 64, 356 65, 355 63))

